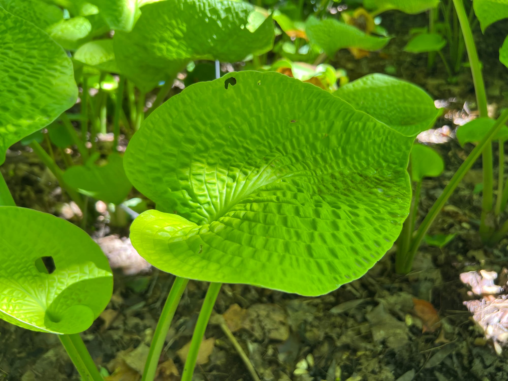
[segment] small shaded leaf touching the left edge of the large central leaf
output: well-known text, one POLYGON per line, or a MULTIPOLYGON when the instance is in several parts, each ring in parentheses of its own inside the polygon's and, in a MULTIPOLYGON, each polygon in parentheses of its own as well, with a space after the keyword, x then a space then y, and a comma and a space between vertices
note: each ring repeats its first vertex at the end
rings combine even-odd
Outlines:
POLYGON ((110 154, 104 165, 91 158, 85 165, 72 166, 63 173, 63 180, 83 195, 113 204, 121 204, 132 189, 118 153, 110 154))

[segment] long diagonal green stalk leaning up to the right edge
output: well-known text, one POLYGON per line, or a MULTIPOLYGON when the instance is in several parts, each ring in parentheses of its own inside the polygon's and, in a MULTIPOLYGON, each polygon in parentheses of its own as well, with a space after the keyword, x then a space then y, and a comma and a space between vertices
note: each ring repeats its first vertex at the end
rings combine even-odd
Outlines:
POLYGON ((444 204, 446 204, 455 188, 459 185, 462 178, 465 176, 467 171, 469 171, 474 162, 478 159, 485 147, 491 144, 492 138, 501 130, 506 120, 508 120, 508 110, 503 111, 501 116, 497 118, 495 124, 489 130, 488 134, 476 147, 474 147, 471 153, 469 153, 466 160, 462 163, 457 172, 455 172, 448 185, 443 189, 441 195, 434 202, 434 205, 432 205, 432 208, 430 208, 429 212, 425 216, 422 224, 418 228, 416 237, 411 243, 411 247, 407 253, 405 261, 404 273, 408 273, 411 270, 412 261, 415 259, 416 251, 418 250, 418 247, 420 246, 425 233, 427 233, 427 230, 429 230, 429 227, 432 225, 437 214, 439 214, 441 208, 444 206, 444 204))

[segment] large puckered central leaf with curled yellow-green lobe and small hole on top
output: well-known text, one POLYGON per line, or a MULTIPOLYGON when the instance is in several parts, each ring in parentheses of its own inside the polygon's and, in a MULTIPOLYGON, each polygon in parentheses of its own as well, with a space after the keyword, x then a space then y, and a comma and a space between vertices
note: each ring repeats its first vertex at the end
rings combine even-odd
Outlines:
POLYGON ((126 174, 158 209, 134 221, 132 243, 179 276, 327 293, 397 238, 412 140, 279 73, 194 84, 126 150, 126 174))

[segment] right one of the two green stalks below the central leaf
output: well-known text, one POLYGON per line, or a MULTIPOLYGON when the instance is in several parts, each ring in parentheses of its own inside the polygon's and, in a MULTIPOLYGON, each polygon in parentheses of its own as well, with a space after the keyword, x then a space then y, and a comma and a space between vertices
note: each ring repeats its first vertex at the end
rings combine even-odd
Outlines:
POLYGON ((217 300, 221 285, 222 283, 210 283, 210 286, 208 287, 205 300, 203 301, 201 311, 199 312, 196 327, 194 328, 194 334, 192 335, 192 340, 190 341, 190 348, 187 354, 187 360, 185 361, 185 366, 183 367, 181 381, 192 381, 196 360, 198 359, 199 347, 203 341, 206 326, 210 320, 213 305, 215 304, 215 300, 217 300))

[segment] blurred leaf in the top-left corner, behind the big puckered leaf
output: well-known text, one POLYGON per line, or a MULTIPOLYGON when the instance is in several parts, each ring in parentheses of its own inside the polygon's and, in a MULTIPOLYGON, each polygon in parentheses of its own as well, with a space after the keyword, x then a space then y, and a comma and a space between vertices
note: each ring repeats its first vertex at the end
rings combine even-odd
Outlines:
POLYGON ((61 9, 42 0, 0 0, 0 7, 41 29, 46 29, 63 18, 61 9))

